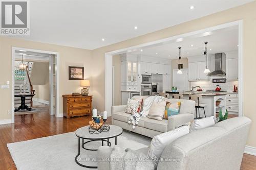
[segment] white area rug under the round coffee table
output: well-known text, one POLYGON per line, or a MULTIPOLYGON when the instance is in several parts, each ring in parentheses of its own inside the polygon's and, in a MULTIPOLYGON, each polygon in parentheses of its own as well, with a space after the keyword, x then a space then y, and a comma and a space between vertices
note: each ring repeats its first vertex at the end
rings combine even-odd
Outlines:
MULTIPOLYGON (((86 140, 84 140, 86 141, 86 140)), ((110 139, 111 147, 114 147, 115 139, 110 139)), ((131 148, 137 150, 150 145, 151 138, 141 136, 132 132, 123 131, 117 137, 117 145, 125 150, 131 148)), ((81 142, 80 142, 81 143, 81 142)), ((106 142, 104 142, 106 145, 106 142)), ((89 142, 86 148, 97 149, 101 141, 89 142)), ((8 143, 7 147, 18 170, 29 169, 87 169, 75 162, 78 154, 78 138, 75 132, 42 137, 27 141, 8 143)), ((80 160, 96 158, 97 151, 87 151, 80 148, 80 160)), ((97 166, 96 162, 80 162, 89 166, 97 166)))

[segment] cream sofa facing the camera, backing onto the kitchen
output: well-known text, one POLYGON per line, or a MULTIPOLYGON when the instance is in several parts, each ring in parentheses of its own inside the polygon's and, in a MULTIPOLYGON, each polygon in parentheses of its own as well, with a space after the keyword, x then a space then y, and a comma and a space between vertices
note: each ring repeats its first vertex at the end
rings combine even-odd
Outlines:
MULTIPOLYGON (((144 98, 143 101, 148 98, 147 96, 134 96, 134 98, 144 98)), ((135 133, 142 134, 148 137, 154 137, 163 132, 173 130, 185 123, 191 122, 194 119, 195 114, 195 101, 184 99, 166 99, 170 103, 181 102, 180 114, 169 116, 168 119, 156 120, 147 117, 142 117, 139 120, 139 124, 133 129, 131 124, 127 123, 127 120, 131 116, 125 113, 126 105, 112 106, 112 124, 117 125, 125 130, 129 130, 135 133)))

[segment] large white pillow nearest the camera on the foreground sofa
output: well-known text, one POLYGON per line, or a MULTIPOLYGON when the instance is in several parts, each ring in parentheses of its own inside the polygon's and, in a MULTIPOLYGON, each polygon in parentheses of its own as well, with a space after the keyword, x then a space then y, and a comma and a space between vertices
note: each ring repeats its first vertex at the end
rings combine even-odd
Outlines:
POLYGON ((151 141, 150 149, 147 152, 147 155, 152 159, 155 164, 158 164, 158 161, 164 151, 165 147, 172 143, 174 140, 178 139, 181 136, 184 136, 189 133, 189 126, 182 126, 172 131, 161 133, 154 136, 151 141))

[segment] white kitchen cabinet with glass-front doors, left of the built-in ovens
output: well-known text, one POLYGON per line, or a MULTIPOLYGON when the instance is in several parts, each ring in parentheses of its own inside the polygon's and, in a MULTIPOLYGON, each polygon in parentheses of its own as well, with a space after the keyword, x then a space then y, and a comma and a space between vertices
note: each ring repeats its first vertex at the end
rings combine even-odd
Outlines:
POLYGON ((121 62, 121 90, 137 90, 137 66, 137 62, 134 61, 121 62))

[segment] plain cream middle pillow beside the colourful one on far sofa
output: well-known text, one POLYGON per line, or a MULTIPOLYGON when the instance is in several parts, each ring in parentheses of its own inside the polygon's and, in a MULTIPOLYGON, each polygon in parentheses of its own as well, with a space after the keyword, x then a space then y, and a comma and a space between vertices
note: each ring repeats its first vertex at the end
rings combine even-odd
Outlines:
POLYGON ((153 102, 150 108, 150 112, 148 112, 147 114, 147 117, 157 119, 157 120, 162 120, 165 106, 166 106, 165 100, 159 103, 153 102))

